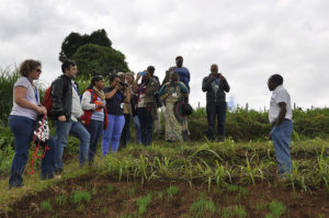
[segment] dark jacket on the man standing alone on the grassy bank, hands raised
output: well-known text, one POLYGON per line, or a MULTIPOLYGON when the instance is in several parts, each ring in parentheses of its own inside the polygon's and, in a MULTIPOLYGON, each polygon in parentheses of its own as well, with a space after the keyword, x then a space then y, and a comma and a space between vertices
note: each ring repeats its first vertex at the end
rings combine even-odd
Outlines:
POLYGON ((215 79, 211 79, 211 74, 205 77, 202 81, 202 91, 207 92, 207 104, 208 103, 217 103, 217 102, 226 102, 226 93, 229 92, 229 85, 226 80, 219 80, 219 88, 217 93, 215 94, 214 89, 212 87, 212 82, 215 79))

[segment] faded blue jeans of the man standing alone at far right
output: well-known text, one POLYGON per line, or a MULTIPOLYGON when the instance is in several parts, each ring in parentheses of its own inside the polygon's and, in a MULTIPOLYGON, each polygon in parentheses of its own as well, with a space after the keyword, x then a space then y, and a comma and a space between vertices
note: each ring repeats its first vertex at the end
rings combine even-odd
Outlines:
POLYGON ((274 126, 271 137, 274 142, 279 173, 292 173, 292 158, 290 142, 293 134, 293 122, 284 119, 280 126, 274 126))

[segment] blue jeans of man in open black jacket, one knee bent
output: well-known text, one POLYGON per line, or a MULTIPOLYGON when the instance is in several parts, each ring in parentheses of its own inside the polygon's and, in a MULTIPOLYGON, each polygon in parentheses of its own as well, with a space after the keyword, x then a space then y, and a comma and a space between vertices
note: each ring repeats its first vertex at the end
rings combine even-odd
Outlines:
POLYGON ((55 169, 63 170, 63 151, 64 147, 67 145, 67 139, 69 133, 80 140, 79 149, 79 164, 80 167, 84 164, 88 157, 88 149, 90 142, 90 135, 88 130, 83 127, 80 122, 59 122, 55 121, 57 141, 56 141, 56 152, 55 152, 55 169))

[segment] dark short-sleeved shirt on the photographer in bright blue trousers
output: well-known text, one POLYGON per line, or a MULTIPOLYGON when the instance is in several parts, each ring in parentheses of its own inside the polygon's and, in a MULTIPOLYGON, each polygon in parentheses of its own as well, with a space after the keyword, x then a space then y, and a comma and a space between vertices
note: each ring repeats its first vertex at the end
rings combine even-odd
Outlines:
MULTIPOLYGON (((106 87, 104 93, 109 93, 114 90, 113 87, 106 87)), ((121 91, 117 91, 111 99, 106 100, 107 114, 123 115, 123 102, 125 96, 121 91)))

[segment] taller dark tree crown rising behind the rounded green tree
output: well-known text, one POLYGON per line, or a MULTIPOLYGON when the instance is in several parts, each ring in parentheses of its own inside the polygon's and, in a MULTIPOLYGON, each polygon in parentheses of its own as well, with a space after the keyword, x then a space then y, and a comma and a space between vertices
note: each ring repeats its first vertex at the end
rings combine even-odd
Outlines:
POLYGON ((95 44, 111 48, 112 42, 107 37, 105 30, 98 30, 90 35, 81 35, 79 33, 70 33, 61 43, 59 53, 59 60, 63 62, 65 59, 71 59, 77 49, 86 44, 95 44))

